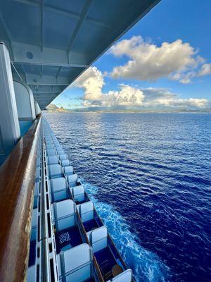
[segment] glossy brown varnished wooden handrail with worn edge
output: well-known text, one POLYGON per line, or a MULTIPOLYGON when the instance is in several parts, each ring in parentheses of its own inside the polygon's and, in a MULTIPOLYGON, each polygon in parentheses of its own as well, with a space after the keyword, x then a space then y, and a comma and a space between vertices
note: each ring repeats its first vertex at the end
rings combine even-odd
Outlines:
POLYGON ((0 167, 0 281, 25 281, 41 115, 0 167))

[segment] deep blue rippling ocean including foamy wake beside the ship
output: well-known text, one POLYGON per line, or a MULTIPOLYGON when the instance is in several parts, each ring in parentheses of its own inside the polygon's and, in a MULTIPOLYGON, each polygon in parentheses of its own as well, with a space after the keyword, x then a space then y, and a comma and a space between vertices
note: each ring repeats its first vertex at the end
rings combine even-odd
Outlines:
POLYGON ((136 281, 211 281, 211 114, 45 114, 136 281))

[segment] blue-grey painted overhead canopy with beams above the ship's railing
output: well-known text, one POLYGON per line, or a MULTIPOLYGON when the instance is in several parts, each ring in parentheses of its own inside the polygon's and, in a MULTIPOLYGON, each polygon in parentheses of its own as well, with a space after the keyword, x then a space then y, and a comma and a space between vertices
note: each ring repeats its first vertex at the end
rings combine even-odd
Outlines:
POLYGON ((0 1, 0 41, 13 77, 44 109, 158 1, 0 1))

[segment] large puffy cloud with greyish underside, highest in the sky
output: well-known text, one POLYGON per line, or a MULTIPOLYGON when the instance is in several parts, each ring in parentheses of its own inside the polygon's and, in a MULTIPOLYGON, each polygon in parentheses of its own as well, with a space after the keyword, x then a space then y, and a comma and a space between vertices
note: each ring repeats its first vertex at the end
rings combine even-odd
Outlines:
POLYGON ((196 76, 193 71, 204 59, 197 56, 197 51, 181 39, 160 47, 145 42, 141 36, 123 39, 110 48, 114 56, 129 58, 123 66, 113 68, 112 78, 129 78, 136 80, 157 80, 168 77, 181 83, 191 82, 196 76), (191 71, 190 71, 191 70, 191 71))

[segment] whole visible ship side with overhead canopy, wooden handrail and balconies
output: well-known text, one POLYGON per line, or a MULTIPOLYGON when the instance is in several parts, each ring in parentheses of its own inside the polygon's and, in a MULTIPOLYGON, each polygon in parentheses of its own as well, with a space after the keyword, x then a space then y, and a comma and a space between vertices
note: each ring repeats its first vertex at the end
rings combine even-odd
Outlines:
POLYGON ((158 2, 0 1, 0 281, 134 280, 44 110, 158 2))

